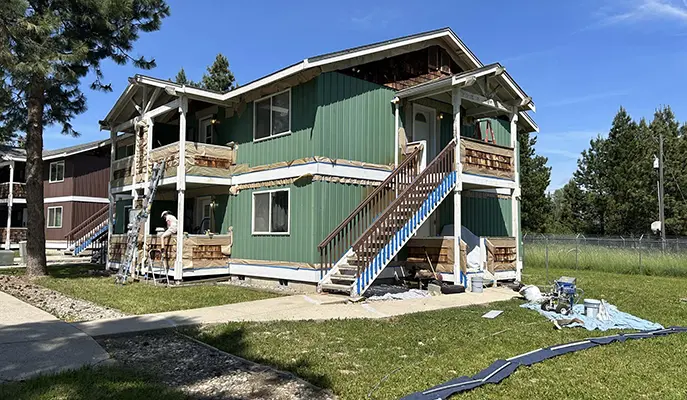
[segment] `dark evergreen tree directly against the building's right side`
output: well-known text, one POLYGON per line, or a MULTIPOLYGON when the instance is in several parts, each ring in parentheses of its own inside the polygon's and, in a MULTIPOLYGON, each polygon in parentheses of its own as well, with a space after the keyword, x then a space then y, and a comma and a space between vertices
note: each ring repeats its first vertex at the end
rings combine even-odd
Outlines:
POLYGON ((551 183, 551 168, 548 159, 537 155, 535 136, 518 134, 520 144, 520 198, 522 229, 528 232, 544 232, 551 202, 546 197, 546 188, 551 183))

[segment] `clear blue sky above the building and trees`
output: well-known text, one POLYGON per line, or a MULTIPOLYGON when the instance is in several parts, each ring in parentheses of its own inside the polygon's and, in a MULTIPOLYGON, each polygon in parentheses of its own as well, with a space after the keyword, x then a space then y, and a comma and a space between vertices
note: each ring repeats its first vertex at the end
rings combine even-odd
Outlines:
MULTIPOLYGON (((608 131, 621 105, 635 118, 651 118, 661 105, 687 118, 687 0, 168 2, 172 16, 134 49, 156 59, 147 73, 160 78, 184 67, 197 80, 221 52, 243 84, 317 54, 451 27, 482 62, 501 62, 533 97, 551 190, 567 182, 579 153, 608 131)), ((92 92, 84 80, 89 109, 73 121, 82 135, 48 128, 46 149, 108 136, 98 120, 140 71, 108 63, 104 72, 113 93, 92 92)))

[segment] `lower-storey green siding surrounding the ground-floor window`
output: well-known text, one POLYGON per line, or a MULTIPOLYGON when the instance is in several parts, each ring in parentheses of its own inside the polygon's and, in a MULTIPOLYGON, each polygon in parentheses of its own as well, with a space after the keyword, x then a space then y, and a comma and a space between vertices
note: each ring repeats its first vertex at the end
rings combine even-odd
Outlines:
MULTIPOLYGON (((314 185, 288 185, 271 187, 269 190, 289 188, 291 191, 290 234, 253 235, 252 209, 253 193, 265 189, 242 190, 229 197, 230 221, 234 229, 232 257, 314 263, 316 246, 313 242, 313 194, 314 185)), ((225 217, 225 221, 226 217, 225 217)), ((223 222, 224 224, 224 222, 223 222)))

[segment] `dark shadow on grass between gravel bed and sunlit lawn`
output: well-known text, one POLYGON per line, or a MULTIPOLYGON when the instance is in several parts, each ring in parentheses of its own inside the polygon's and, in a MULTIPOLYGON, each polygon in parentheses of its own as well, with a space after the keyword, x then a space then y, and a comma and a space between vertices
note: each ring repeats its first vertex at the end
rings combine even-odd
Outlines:
POLYGON ((212 334, 207 334, 199 326, 183 328, 181 332, 248 361, 267 365, 279 371, 290 372, 319 388, 332 389, 331 379, 327 375, 314 372, 314 366, 302 357, 287 362, 271 357, 270 354, 261 354, 246 340, 247 332, 242 326, 231 327, 231 329, 225 327, 221 333, 215 331, 212 334))

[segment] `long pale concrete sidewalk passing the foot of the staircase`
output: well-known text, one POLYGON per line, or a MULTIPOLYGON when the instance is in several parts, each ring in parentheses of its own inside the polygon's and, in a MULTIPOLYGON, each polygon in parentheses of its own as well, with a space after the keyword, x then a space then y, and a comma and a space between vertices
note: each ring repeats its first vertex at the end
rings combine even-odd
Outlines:
POLYGON ((413 300, 345 304, 338 296, 297 295, 193 310, 137 315, 74 323, 86 334, 108 336, 181 326, 240 321, 299 321, 353 318, 386 318, 422 311, 465 307, 510 300, 517 293, 489 288, 484 293, 461 293, 413 300))

